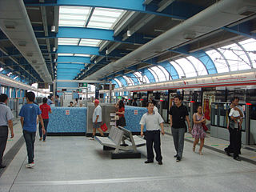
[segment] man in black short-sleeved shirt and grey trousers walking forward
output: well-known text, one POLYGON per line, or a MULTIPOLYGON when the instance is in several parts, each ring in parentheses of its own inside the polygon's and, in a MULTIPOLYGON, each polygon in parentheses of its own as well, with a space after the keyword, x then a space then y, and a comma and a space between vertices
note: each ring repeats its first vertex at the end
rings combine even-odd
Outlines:
POLYGON ((177 154, 174 155, 174 158, 176 158, 176 162, 179 162, 182 160, 184 147, 184 134, 186 131, 185 120, 189 126, 189 131, 191 131, 191 127, 189 114, 186 106, 183 106, 182 104, 181 95, 176 95, 174 97, 174 104, 174 106, 170 107, 170 127, 174 138, 175 150, 177 152, 177 154))

